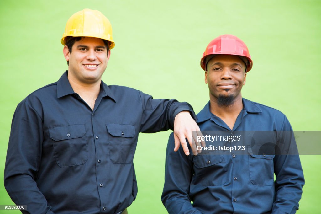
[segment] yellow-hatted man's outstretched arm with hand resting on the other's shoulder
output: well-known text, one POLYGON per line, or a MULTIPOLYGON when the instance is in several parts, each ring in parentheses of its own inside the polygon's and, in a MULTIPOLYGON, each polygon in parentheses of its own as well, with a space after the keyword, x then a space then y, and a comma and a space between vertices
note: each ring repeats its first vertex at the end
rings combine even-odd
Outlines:
MULTIPOLYGON (((197 155, 196 146, 199 143, 192 145, 192 138, 196 142, 196 136, 192 136, 192 131, 200 129, 195 122, 196 116, 192 106, 185 102, 179 103, 177 100, 153 99, 148 94, 143 94, 141 91, 139 93, 143 105, 140 132, 153 133, 174 128, 174 150, 177 151, 179 144, 181 144, 185 154, 189 155, 187 138, 194 155, 197 155)), ((205 142, 201 143, 203 145, 205 142)))

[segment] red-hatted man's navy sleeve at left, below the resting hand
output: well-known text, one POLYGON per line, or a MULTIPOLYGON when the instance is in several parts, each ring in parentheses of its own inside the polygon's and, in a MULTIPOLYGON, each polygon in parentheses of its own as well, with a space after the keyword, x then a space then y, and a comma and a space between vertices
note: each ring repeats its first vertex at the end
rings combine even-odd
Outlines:
POLYGON ((192 163, 180 147, 174 152, 174 135, 170 134, 165 163, 165 183, 161 200, 169 214, 201 214, 188 195, 193 176, 192 163))

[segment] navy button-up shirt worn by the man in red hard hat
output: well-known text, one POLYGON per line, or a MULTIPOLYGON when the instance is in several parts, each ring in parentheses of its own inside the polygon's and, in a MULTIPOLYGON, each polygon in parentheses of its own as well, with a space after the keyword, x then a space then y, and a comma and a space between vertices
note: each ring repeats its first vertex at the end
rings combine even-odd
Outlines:
MULTIPOLYGON (((243 99, 233 130, 210 112, 197 114, 201 130, 292 130, 284 114, 243 99)), ((173 151, 169 137, 162 201, 169 213, 295 213, 304 185, 297 155, 198 155, 173 151), (275 182, 273 173, 276 176, 275 182), (193 201, 193 204, 191 204, 193 201)), ((191 153, 192 154, 192 153, 191 153)))

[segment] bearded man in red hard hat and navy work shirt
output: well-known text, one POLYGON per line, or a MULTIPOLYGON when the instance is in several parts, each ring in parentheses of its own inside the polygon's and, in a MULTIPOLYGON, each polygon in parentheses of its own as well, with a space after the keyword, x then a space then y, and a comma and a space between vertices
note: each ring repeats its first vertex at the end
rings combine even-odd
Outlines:
POLYGON ((296 146, 288 143, 294 139, 289 121, 282 112, 241 95, 252 65, 247 46, 236 36, 221 35, 206 47, 201 67, 210 101, 197 114, 197 123, 209 139, 206 147, 197 146, 198 156, 185 156, 181 149, 172 151, 170 135, 161 197, 169 213, 299 209, 304 177, 296 146))

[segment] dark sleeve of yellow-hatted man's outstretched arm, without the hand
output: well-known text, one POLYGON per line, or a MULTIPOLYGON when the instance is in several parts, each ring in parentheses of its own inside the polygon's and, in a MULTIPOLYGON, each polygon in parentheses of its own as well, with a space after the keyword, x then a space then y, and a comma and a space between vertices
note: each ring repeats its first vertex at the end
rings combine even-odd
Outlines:
POLYGON ((196 120, 192 106, 186 102, 180 103, 173 99, 153 99, 151 95, 141 91, 139 93, 143 108, 140 132, 154 133, 168 129, 173 130, 175 116, 181 111, 189 111, 193 119, 196 120))

